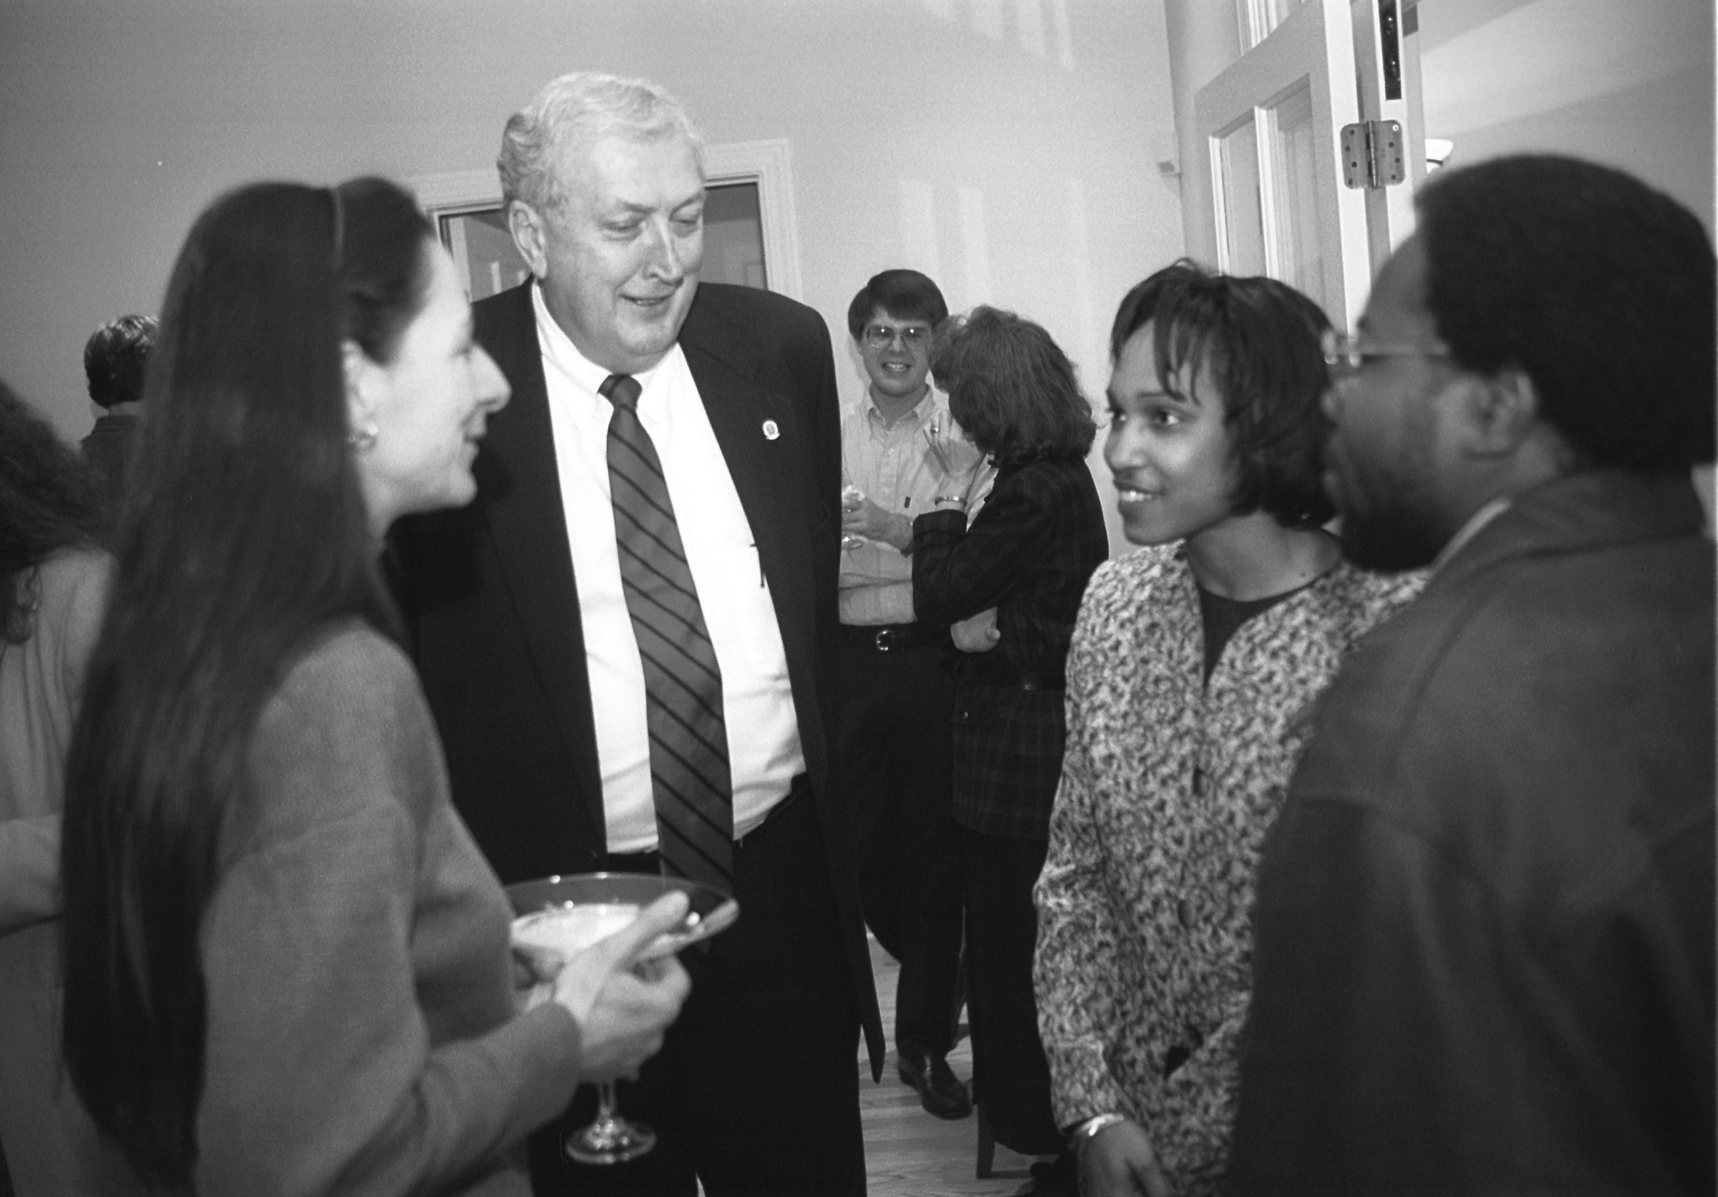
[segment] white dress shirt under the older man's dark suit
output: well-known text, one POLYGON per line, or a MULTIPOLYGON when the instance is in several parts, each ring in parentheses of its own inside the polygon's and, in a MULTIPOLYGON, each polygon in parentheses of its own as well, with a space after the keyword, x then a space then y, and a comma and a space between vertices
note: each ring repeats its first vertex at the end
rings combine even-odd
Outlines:
MULTIPOLYGON (((620 586, 608 489, 608 419, 613 407, 596 393, 608 371, 577 350, 550 316, 536 285, 531 302, 543 349, 572 575, 579 587, 608 850, 644 852, 656 847, 656 805, 644 716, 644 666, 620 586)), ((806 768, 787 678, 787 651, 756 538, 685 354, 675 345, 661 362, 636 378, 643 386, 639 422, 661 459, 685 560, 722 666, 734 835, 739 838, 763 823, 806 768)))

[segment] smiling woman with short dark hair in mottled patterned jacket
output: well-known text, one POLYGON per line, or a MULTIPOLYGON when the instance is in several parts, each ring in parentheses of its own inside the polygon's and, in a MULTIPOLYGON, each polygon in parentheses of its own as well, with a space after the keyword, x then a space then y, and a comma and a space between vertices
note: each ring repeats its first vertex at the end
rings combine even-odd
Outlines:
POLYGON ((1328 326, 1283 283, 1184 261, 1112 330, 1105 460, 1148 548, 1081 605, 1036 888, 1039 1025, 1089 1197, 1216 1190, 1264 831, 1307 706, 1416 589, 1321 529, 1328 326))

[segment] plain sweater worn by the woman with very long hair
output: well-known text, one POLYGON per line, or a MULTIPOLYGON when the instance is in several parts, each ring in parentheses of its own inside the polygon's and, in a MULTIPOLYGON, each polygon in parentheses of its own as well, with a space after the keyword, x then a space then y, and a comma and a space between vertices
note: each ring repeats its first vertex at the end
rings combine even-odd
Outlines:
POLYGON ((405 656, 330 629, 266 702, 203 926, 198 1190, 527 1194, 579 1029, 514 1013, 510 908, 405 656))

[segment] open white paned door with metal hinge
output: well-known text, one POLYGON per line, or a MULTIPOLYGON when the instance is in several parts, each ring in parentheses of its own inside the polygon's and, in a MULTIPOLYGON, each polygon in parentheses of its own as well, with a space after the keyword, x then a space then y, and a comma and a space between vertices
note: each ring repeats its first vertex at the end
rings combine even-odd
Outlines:
POLYGON ((1278 278, 1352 328, 1424 179, 1412 5, 1172 3, 1189 254, 1278 278))

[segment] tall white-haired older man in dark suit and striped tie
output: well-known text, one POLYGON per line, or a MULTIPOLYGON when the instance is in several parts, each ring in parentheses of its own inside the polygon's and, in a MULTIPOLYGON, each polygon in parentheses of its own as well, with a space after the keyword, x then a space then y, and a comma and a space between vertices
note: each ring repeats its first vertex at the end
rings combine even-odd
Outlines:
POLYGON ((514 400, 478 500, 399 529, 454 799, 503 881, 667 871, 732 888, 612 1168, 533 1144, 539 1194, 861 1194, 873 1072, 854 821, 830 769, 840 416, 821 318, 699 285, 703 146, 660 88, 550 82, 503 136, 533 280, 476 306, 514 400), (696 1176, 696 1180, 694 1180, 696 1176))

